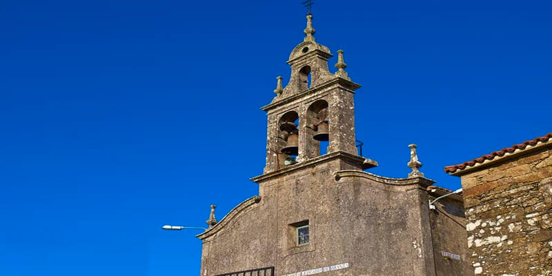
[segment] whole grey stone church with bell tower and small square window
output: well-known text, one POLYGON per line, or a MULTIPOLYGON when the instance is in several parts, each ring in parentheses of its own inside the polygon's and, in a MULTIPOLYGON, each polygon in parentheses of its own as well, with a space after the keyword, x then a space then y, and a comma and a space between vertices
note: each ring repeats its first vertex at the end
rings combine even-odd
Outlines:
MULTIPOLYGON (((343 51, 336 72, 317 42, 312 15, 291 52, 287 86, 277 78, 268 116, 266 164, 253 177, 259 195, 217 222, 202 240, 201 275, 473 275, 466 262, 462 197, 431 186, 411 145, 408 177, 364 170, 343 51)), ((405 152, 406 155, 406 152, 405 152)), ((213 206, 214 210, 214 206, 213 206)))

